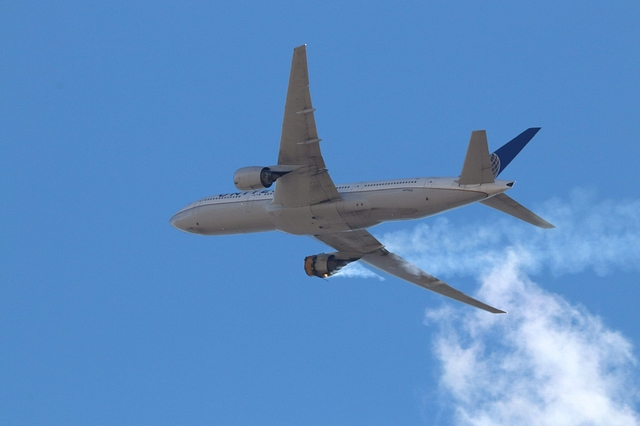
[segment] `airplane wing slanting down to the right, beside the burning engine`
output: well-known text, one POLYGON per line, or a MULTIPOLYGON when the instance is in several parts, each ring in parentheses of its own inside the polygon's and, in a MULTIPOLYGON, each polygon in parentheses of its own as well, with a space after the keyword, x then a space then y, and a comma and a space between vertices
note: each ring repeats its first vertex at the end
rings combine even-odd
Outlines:
POLYGON ((388 274, 394 275, 412 284, 450 297, 459 302, 483 309, 493 314, 506 313, 489 306, 461 291, 445 284, 438 278, 427 274, 416 265, 407 262, 400 256, 389 252, 373 235, 364 229, 357 231, 336 232, 333 234, 314 235, 325 244, 333 247, 347 257, 361 256, 360 260, 388 274))

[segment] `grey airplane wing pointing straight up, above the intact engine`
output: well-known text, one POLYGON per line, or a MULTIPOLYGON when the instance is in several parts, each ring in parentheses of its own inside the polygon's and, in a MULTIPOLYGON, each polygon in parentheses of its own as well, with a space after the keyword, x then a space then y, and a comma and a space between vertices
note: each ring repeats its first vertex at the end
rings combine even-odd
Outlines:
POLYGON ((303 45, 293 49, 278 154, 279 166, 295 166, 295 170, 276 182, 274 204, 297 207, 340 199, 320 152, 314 111, 309 92, 307 46, 303 45))

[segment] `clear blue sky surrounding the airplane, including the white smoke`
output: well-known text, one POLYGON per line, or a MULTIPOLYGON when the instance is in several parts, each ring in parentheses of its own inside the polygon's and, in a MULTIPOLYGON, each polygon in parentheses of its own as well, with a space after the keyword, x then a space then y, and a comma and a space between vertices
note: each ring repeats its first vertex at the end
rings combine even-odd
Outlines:
POLYGON ((638 424, 639 20, 630 1, 3 3, 2 423, 638 424), (478 205, 372 230, 508 315, 308 278, 310 238, 169 226, 276 162, 303 43, 337 183, 457 175, 472 130, 495 149, 542 127, 504 176, 557 229, 478 205))

